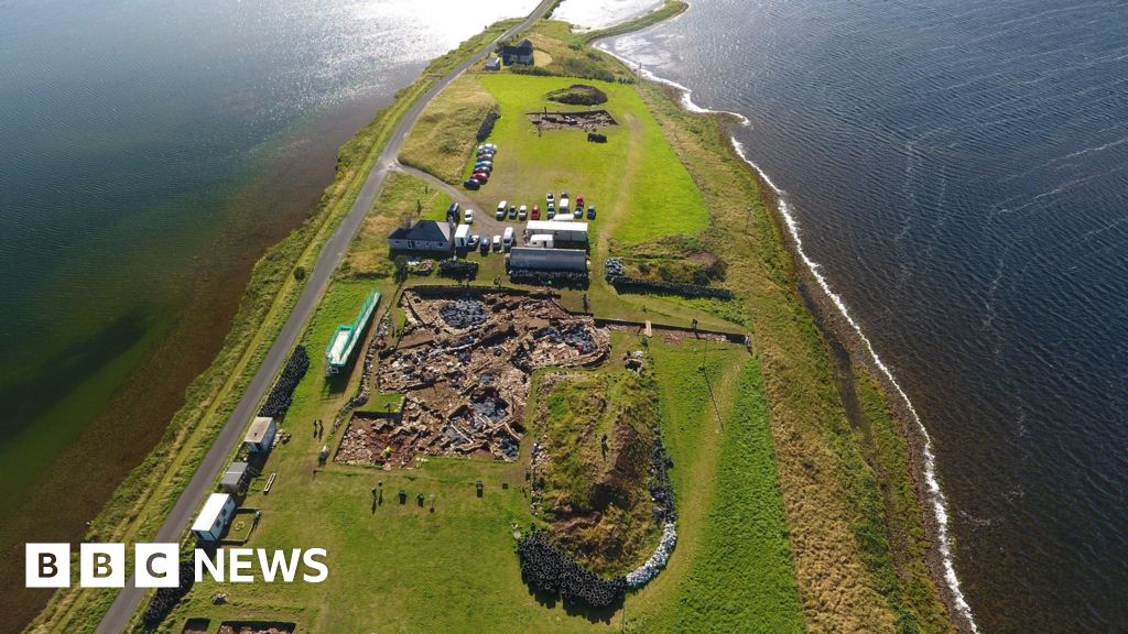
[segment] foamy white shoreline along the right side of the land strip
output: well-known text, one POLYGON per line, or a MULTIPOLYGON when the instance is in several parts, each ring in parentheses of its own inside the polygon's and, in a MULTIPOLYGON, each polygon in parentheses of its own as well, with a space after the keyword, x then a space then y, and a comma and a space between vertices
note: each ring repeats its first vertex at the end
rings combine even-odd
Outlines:
MULTIPOLYGON (((679 12, 671 19, 676 19, 680 15, 679 12)), ((845 300, 834 291, 829 281, 819 273, 819 264, 812 261, 803 250, 802 228, 797 219, 790 211, 786 191, 776 186, 770 177, 748 157, 744 146, 732 133, 733 125, 749 125, 748 117, 740 113, 703 107, 693 100, 693 89, 689 87, 658 76, 649 69, 642 68, 637 62, 624 58, 610 51, 607 46, 597 43, 598 39, 618 35, 623 35, 623 33, 596 37, 591 44, 599 51, 619 60, 628 68, 638 69, 644 79, 672 89, 679 96, 678 103, 687 112, 720 117, 722 120, 722 129, 725 131, 729 140, 730 151, 760 183, 764 203, 772 210, 772 217, 775 219, 777 228, 781 229, 779 234, 783 237, 787 252, 791 254, 793 261, 802 263, 802 266, 796 267, 799 279, 795 280, 800 294, 808 305, 819 331, 827 338, 832 356, 839 356, 839 347, 847 355, 845 360, 835 359, 836 366, 839 366, 839 368, 843 366, 848 367, 847 372, 851 385, 853 385, 853 380, 856 377, 853 367, 867 369, 881 385, 887 408, 900 428, 901 435, 909 448, 907 456, 910 467, 909 475, 913 478, 917 500, 922 505, 924 516, 922 519, 924 520, 925 534, 929 540, 927 551, 928 561, 926 563, 931 576, 936 583, 949 615, 957 627, 961 632, 979 634, 975 615, 967 602, 959 575, 955 571, 952 541, 948 526, 948 500, 936 474, 936 458, 933 450, 932 437, 928 434, 927 428, 925 428, 908 394, 897 382, 892 370, 885 366, 884 361, 882 361, 881 356, 873 349, 870 340, 865 336, 862 326, 849 314, 845 300)), ((844 398, 844 404, 845 400, 844 398)), ((849 407, 847 407, 847 411, 849 411, 849 407)))

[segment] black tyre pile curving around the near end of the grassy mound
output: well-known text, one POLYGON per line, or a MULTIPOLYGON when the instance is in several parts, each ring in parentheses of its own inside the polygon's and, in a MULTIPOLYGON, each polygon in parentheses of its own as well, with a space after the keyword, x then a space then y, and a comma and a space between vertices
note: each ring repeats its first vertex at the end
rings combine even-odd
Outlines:
POLYGON ((548 535, 534 531, 517 544, 521 578, 541 592, 559 595, 565 601, 606 608, 623 601, 626 578, 607 580, 584 569, 548 543, 548 535))

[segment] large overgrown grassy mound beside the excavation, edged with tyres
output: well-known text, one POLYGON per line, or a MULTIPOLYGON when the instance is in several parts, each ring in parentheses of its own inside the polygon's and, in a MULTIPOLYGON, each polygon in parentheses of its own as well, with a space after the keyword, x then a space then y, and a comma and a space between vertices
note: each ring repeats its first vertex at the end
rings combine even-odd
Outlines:
POLYGON ((654 381, 629 371, 541 380, 537 513, 553 541, 601 574, 628 572, 655 535, 650 494, 658 410, 654 381))

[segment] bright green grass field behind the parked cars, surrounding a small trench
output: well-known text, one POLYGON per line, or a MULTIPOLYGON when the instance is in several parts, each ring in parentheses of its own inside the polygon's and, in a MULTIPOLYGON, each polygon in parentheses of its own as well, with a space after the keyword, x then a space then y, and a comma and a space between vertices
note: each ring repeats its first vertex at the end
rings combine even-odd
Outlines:
MULTIPOLYGON (((490 183, 472 193, 482 209, 499 200, 541 204, 546 192, 583 195, 600 215, 590 231, 598 240, 606 227, 625 243, 696 234, 708 224, 708 212, 689 173, 662 137, 633 86, 593 82, 608 94, 606 108, 619 123, 605 127, 607 143, 588 142, 582 130, 552 130, 537 135, 527 113, 580 111, 545 99, 573 80, 512 74, 478 76, 500 104, 502 118, 490 142, 499 152, 490 183), (617 218, 623 218, 617 221, 617 218)), ((467 166, 468 168, 469 166, 467 166)))

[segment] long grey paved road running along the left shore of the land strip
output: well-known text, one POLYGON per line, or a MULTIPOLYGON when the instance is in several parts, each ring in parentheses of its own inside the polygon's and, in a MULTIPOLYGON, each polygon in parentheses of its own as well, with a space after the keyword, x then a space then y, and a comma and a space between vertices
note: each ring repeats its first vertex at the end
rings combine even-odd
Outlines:
MULTIPOLYGON (((258 404, 266 395, 266 390, 270 389, 274 377, 282 369, 287 355, 298 342, 314 308, 320 301, 321 296, 325 294, 325 289, 329 284, 329 278, 341 264, 341 259, 349 249, 349 245, 352 243, 352 238, 360 228, 361 221, 363 221, 368 210, 372 208, 377 193, 384 186, 385 178, 387 178, 389 171, 397 168, 398 161, 396 157, 399 156, 399 149, 404 143, 404 139, 407 138, 407 133, 411 132, 416 120, 418 120, 423 108, 439 91, 453 81, 456 77, 490 54, 497 41, 508 39, 529 28, 534 21, 545 15, 553 3, 554 0, 543 0, 521 24, 510 28, 497 39, 450 71, 450 73, 439 80, 438 83, 431 87, 430 90, 407 109, 399 125, 396 126, 396 130, 388 139, 384 151, 377 158, 376 165, 372 166, 372 170, 369 173, 368 179, 360 191, 360 195, 356 196, 356 202, 353 203, 349 210, 349 214, 341 222, 341 226, 337 227, 336 231, 333 232, 333 236, 329 237, 329 240, 321 248, 321 253, 317 256, 317 263, 309 273, 306 288, 302 289, 293 312, 287 318, 285 324, 282 326, 282 332, 279 333, 274 345, 266 353, 266 359, 263 360, 263 364, 250 380, 247 391, 243 395, 243 398, 227 420, 227 423, 224 423, 222 431, 220 431, 219 437, 215 439, 215 443, 208 451, 200 468, 188 482, 187 487, 180 493, 176 505, 173 507, 168 518, 165 519, 165 523, 157 530, 155 541, 179 541, 204 495, 212 492, 213 483, 219 477, 220 470, 227 465, 227 459, 231 455, 236 442, 241 439, 244 428, 250 421, 258 404)), ((113 605, 109 607, 109 611, 103 617, 95 633, 115 634, 124 632, 130 617, 141 604, 144 592, 143 589, 136 588, 133 584, 133 580, 130 579, 125 588, 117 593, 113 605)))

